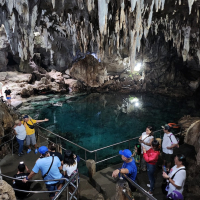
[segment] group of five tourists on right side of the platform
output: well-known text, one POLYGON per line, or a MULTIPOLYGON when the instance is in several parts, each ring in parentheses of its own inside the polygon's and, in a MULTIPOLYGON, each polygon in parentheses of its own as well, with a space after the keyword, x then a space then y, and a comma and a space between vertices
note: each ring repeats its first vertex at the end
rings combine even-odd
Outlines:
MULTIPOLYGON (((173 149, 178 147, 176 137, 171 133, 171 127, 166 124, 162 127, 164 137, 162 141, 162 190, 167 199, 183 200, 183 188, 186 180, 185 162, 186 158, 182 154, 173 156, 173 149), (174 158, 174 161, 173 161, 174 158), (172 163, 174 166, 171 168, 172 163)), ((126 174, 132 181, 137 183, 137 174, 139 171, 147 171, 149 183, 148 193, 153 195, 155 189, 155 172, 158 159, 160 159, 161 144, 154 139, 152 127, 148 126, 146 131, 139 138, 139 143, 135 145, 133 153, 129 149, 120 150, 122 167, 112 173, 112 177, 118 177, 126 174)), ((131 191, 136 188, 128 182, 131 191)))

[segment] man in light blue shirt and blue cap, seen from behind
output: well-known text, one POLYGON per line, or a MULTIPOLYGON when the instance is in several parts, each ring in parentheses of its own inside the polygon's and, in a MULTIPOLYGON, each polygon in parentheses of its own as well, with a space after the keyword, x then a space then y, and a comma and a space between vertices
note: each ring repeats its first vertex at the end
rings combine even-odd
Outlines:
MULTIPOLYGON (((26 183, 29 179, 33 178, 35 174, 39 172, 39 170, 41 171, 42 178, 44 180, 64 178, 64 176, 60 173, 60 170, 62 170, 62 165, 59 158, 57 156, 50 156, 46 146, 41 146, 38 151, 41 154, 41 158, 37 160, 31 173, 23 179, 23 182, 26 183)), ((63 186, 63 183, 64 180, 45 182, 48 191, 60 190, 63 186)), ((54 192, 49 194, 51 199, 53 199, 54 196, 54 192)))

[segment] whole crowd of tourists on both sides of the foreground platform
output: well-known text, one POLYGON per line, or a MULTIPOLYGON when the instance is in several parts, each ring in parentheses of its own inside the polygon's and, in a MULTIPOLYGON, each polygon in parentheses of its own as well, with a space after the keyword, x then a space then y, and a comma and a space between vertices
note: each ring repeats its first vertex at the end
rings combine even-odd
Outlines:
MULTIPOLYGON (((20 163, 18 166, 18 172, 14 176, 15 178, 23 179, 23 181, 13 181, 13 187, 18 189, 30 189, 29 179, 32 179, 39 170, 42 173, 44 180, 51 180, 45 182, 46 188, 49 191, 59 190, 64 184, 64 179, 60 181, 52 181, 53 179, 70 178, 77 172, 77 163, 80 160, 79 157, 74 155, 72 151, 67 150, 64 154, 64 159, 59 152, 56 152, 54 144, 49 144, 48 147, 37 147, 35 137, 35 123, 46 122, 44 120, 34 120, 28 115, 23 116, 23 120, 16 120, 13 127, 16 134, 17 142, 19 143, 18 156, 22 156, 24 141, 28 147, 27 154, 31 152, 31 145, 35 148, 35 154, 40 153, 40 157, 36 160, 34 167, 30 171, 25 163, 20 163), (26 171, 26 172, 25 172, 26 171), (62 173, 61 173, 62 171, 62 173), (27 183, 28 182, 28 183, 27 183)), ((171 133, 171 127, 165 125, 163 127, 164 137, 162 145, 153 136, 152 127, 148 126, 146 131, 142 133, 139 138, 139 142, 135 145, 134 151, 129 149, 120 150, 123 165, 121 168, 116 169, 112 173, 112 177, 119 177, 126 174, 132 181, 137 183, 137 174, 140 171, 147 171, 149 183, 147 186, 149 194, 153 195, 155 190, 155 172, 157 169, 157 162, 160 159, 160 150, 162 146, 162 169, 163 180, 165 180, 164 190, 167 199, 182 200, 182 192, 186 179, 185 169, 185 156, 178 154, 173 157, 173 149, 178 146, 176 137, 171 133), (174 158, 174 166, 171 168, 174 158)), ((135 191, 136 188, 129 181, 129 187, 131 191, 135 191)), ((16 193, 18 196, 24 196, 24 193, 16 193)), ((55 192, 50 193, 50 198, 55 196, 55 192)))

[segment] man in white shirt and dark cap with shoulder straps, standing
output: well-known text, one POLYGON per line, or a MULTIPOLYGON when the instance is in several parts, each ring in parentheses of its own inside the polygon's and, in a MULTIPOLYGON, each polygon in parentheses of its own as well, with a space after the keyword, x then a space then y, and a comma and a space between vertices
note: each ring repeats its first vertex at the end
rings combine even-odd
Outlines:
POLYGON ((175 136, 171 133, 171 128, 168 124, 165 124, 162 128, 165 133, 162 142, 163 170, 164 166, 169 170, 173 160, 173 148, 178 145, 178 142, 175 136))

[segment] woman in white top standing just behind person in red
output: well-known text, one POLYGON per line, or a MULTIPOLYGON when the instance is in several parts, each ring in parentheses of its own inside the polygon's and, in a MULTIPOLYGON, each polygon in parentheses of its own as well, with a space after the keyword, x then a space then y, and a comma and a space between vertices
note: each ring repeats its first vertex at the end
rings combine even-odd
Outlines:
POLYGON ((139 138, 139 142, 141 143, 141 169, 142 171, 146 171, 146 162, 143 158, 143 147, 148 151, 151 148, 151 143, 153 141, 153 129, 151 126, 147 126, 146 132, 143 132, 141 137, 139 138))

